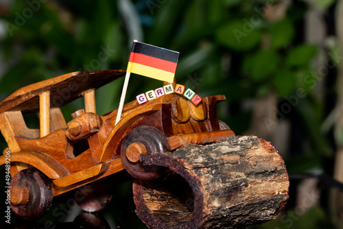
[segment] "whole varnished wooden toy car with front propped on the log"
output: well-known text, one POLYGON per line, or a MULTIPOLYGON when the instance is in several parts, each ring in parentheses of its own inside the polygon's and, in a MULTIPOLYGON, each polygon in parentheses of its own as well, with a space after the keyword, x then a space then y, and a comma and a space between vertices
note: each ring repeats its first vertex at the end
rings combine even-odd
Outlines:
POLYGON ((224 95, 204 97, 199 106, 178 94, 141 105, 132 101, 124 106, 117 125, 117 110, 96 115, 94 89, 124 74, 119 70, 69 73, 20 88, 0 103, 0 130, 8 143, 0 165, 10 165, 8 186, 16 215, 38 219, 47 213, 54 196, 124 169, 134 178, 159 176, 161 168, 142 165, 141 154, 234 135, 217 119, 216 104, 224 95), (60 107, 81 95, 86 112, 74 112, 66 123, 60 107), (34 112, 39 112, 40 130, 25 125, 23 116, 34 112))

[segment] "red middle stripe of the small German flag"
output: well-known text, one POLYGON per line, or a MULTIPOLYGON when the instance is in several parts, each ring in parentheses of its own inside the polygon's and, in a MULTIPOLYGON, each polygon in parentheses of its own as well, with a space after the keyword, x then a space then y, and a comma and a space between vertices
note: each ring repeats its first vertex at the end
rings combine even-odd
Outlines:
POLYGON ((146 56, 141 53, 131 53, 129 62, 134 62, 137 64, 143 64, 155 69, 161 69, 163 71, 169 71, 175 73, 177 63, 170 62, 167 60, 161 60, 154 58, 152 56, 146 56))

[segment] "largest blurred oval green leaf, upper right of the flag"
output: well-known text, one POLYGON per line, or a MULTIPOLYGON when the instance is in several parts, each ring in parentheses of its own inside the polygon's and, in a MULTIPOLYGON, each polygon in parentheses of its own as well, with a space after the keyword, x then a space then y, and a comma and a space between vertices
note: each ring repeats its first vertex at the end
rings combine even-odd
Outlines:
POLYGON ((257 46, 262 34, 258 27, 245 20, 230 22, 220 27, 215 35, 217 41, 222 45, 229 49, 242 51, 257 46))

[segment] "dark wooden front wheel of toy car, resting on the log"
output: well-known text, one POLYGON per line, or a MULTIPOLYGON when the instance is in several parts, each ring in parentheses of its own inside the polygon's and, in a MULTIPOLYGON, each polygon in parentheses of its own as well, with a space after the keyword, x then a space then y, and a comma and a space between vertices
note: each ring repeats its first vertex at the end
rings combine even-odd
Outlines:
POLYGON ((170 152, 169 142, 157 128, 141 125, 131 130, 123 139, 121 160, 126 171, 134 178, 152 180, 158 178, 165 168, 143 165, 139 156, 154 152, 170 152))

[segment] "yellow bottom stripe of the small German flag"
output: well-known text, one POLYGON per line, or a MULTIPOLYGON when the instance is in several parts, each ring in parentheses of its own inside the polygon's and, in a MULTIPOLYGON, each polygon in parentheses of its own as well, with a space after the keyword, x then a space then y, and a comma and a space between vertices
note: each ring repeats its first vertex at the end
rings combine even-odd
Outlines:
POLYGON ((152 77, 156 80, 162 80, 166 82, 173 82, 175 73, 169 71, 163 71, 161 69, 156 69, 143 64, 128 63, 128 72, 136 73, 139 75, 144 75, 147 77, 152 77))

